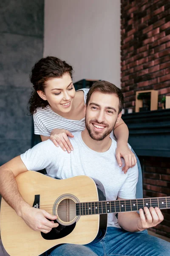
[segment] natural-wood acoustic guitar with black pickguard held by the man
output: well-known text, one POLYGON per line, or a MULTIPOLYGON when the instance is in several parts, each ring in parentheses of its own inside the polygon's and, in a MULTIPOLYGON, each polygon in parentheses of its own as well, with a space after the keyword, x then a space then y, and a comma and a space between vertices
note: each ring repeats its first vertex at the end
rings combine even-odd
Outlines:
POLYGON ((11 256, 38 256, 57 244, 100 240, 107 230, 107 213, 138 211, 145 206, 170 208, 170 197, 107 201, 102 183, 85 175, 56 180, 28 171, 16 180, 24 200, 57 215, 59 226, 48 234, 31 230, 2 199, 1 238, 11 256))

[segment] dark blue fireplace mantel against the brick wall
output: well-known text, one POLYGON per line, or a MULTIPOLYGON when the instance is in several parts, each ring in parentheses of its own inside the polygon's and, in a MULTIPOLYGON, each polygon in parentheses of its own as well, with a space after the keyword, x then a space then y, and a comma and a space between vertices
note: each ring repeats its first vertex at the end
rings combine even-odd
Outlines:
POLYGON ((122 115, 138 156, 170 157, 170 109, 122 115))

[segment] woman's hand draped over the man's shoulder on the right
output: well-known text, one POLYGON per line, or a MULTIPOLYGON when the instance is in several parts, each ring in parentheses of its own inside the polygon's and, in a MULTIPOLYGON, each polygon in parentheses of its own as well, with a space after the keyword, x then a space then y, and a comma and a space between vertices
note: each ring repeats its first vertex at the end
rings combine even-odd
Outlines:
POLYGON ((127 170, 137 163, 136 157, 128 147, 127 143, 117 145, 116 159, 119 166, 122 166, 121 157, 125 160, 125 166, 122 168, 122 171, 126 174, 127 170))

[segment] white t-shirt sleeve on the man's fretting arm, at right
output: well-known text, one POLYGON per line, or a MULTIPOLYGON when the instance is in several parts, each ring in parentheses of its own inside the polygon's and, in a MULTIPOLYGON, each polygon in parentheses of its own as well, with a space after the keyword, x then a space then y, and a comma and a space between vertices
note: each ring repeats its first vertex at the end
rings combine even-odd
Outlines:
POLYGON ((136 165, 127 171, 127 178, 119 190, 118 196, 123 199, 135 199, 136 198, 136 184, 138 182, 138 165, 136 165))

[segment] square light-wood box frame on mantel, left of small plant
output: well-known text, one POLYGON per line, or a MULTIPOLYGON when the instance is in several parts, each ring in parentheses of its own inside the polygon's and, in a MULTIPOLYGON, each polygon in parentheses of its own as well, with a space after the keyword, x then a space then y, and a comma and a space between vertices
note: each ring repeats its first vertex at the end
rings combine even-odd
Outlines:
POLYGON ((158 91, 144 90, 136 92, 135 112, 152 111, 158 109, 158 91))

